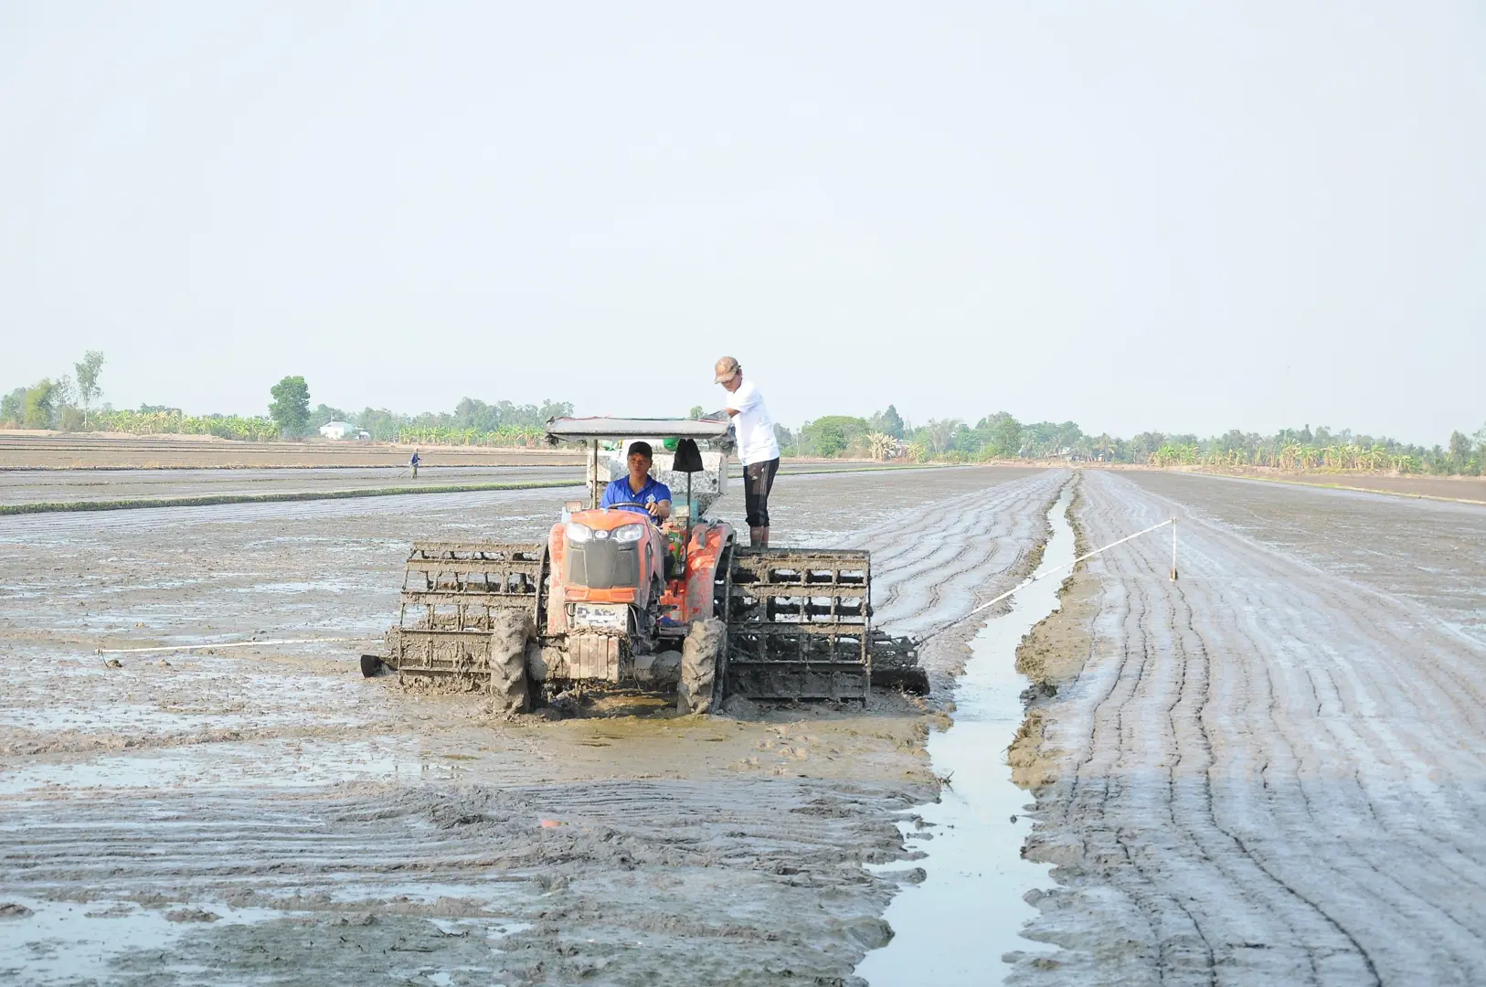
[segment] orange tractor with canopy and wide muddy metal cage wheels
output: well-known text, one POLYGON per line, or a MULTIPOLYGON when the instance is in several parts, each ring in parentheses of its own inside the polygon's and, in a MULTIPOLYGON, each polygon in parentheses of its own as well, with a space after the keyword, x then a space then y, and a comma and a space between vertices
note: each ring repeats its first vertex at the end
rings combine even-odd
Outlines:
POLYGON ((489 691, 508 711, 565 688, 675 690, 681 712, 728 696, 865 702, 874 678, 926 691, 915 642, 872 629, 866 551, 743 547, 704 517, 727 488, 727 428, 551 419, 551 441, 590 453, 588 507, 569 502, 535 544, 415 543, 388 654, 363 656, 363 672, 489 691), (652 470, 676 498, 658 525, 597 507, 605 474, 639 439, 673 447, 652 470), (615 441, 603 456, 600 443, 615 441))

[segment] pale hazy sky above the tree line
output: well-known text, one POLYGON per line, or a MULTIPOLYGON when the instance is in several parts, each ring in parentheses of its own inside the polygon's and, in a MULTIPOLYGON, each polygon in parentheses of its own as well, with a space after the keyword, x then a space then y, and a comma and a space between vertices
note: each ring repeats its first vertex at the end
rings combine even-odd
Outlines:
POLYGON ((1486 422, 1480 3, 0 0, 0 386, 1486 422))

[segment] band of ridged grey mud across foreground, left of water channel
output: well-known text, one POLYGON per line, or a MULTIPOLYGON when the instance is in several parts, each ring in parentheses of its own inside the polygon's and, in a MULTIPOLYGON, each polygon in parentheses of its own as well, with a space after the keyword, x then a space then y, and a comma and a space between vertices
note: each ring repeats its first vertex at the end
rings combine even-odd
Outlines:
MULTIPOLYGON (((0 874, 10 893, 334 896, 354 881, 495 877, 536 881, 565 862, 768 870, 887 861, 899 844, 893 789, 810 780, 608 779, 563 785, 380 786, 155 792, 110 800, 7 798, 0 874), (868 812, 862 812, 866 809, 868 812), (544 825, 544 821, 551 825, 544 825), (874 849, 875 847, 875 849, 874 849)), ((856 873, 820 880, 862 883, 856 873)), ((383 881, 385 883, 385 881, 383 881)))

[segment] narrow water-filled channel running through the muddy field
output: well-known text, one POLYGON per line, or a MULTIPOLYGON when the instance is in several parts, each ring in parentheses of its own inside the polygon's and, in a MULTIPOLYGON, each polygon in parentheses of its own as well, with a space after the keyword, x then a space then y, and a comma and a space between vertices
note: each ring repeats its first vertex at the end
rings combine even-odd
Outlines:
MULTIPOLYGON (((1037 575, 1073 562, 1064 516, 1071 496, 1065 486, 1048 513, 1052 537, 1037 575)), ((893 941, 856 968, 872 987, 1000 984, 1009 971, 1002 954, 1045 948, 1019 935, 1037 914, 1022 895, 1048 883, 1051 865, 1021 859, 1031 829, 1022 809, 1028 795, 1012 783, 1006 748, 1021 725, 1028 684, 1016 672, 1016 645, 1058 609, 1060 584, 1048 578, 1018 592, 1012 611, 987 621, 970 642, 954 724, 929 739, 935 774, 951 780, 938 803, 917 809, 932 825, 905 826, 908 849, 927 855, 920 865, 929 876, 893 899, 884 916, 893 941)))

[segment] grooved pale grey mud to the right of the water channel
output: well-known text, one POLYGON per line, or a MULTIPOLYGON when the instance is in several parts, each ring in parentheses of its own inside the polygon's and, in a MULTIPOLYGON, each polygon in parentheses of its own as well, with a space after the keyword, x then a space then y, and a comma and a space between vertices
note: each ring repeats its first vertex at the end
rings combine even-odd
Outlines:
POLYGON ((1083 577, 1094 651, 1043 713, 1073 767, 1028 841, 1064 884, 1030 935, 1065 948, 1015 981, 1486 980, 1486 648, 1116 474, 1083 498, 1094 544, 1178 514, 1181 580, 1159 540, 1083 577))

